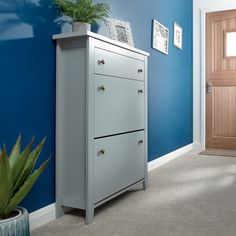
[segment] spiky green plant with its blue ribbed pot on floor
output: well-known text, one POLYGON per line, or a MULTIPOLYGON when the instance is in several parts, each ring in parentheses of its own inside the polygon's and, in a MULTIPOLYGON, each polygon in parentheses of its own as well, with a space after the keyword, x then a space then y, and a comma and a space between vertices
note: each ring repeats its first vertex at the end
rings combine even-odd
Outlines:
POLYGON ((34 170, 42 151, 45 138, 33 150, 34 138, 21 151, 21 136, 18 137, 8 157, 5 146, 0 153, 0 235, 29 235, 29 217, 19 203, 28 194, 48 160, 34 170))

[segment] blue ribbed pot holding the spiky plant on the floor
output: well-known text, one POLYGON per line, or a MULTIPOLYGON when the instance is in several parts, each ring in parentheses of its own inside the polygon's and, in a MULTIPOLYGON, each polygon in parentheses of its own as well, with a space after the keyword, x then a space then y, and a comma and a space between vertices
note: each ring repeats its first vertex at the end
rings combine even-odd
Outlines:
POLYGON ((0 236, 29 236, 29 215, 25 208, 17 207, 17 215, 0 220, 0 236))

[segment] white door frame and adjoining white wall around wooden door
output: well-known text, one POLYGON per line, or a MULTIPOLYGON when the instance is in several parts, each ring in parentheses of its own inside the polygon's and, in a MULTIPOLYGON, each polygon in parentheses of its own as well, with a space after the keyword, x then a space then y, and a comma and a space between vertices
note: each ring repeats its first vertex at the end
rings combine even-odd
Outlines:
POLYGON ((204 117, 201 96, 205 84, 201 83, 201 10, 207 12, 236 9, 236 0, 193 0, 193 142, 204 145, 204 117))

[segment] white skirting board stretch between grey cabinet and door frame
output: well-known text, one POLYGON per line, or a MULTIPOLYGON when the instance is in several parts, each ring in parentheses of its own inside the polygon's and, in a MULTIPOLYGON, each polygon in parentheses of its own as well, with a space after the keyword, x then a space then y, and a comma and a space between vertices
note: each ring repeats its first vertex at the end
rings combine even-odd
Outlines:
POLYGON ((161 156, 153 161, 148 162, 148 171, 152 171, 152 170, 166 164, 167 162, 185 154, 186 152, 191 151, 193 148, 194 148, 194 145, 193 145, 193 143, 191 143, 187 146, 184 146, 180 149, 177 149, 177 150, 170 152, 164 156, 161 156))

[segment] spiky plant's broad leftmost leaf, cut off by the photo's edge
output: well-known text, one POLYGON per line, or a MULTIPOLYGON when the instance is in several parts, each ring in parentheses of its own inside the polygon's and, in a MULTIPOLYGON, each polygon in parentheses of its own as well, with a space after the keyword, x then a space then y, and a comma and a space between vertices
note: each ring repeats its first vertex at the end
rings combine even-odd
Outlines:
POLYGON ((12 173, 6 149, 0 155, 0 218, 3 218, 4 209, 12 196, 12 173))

